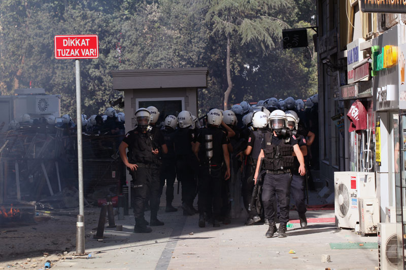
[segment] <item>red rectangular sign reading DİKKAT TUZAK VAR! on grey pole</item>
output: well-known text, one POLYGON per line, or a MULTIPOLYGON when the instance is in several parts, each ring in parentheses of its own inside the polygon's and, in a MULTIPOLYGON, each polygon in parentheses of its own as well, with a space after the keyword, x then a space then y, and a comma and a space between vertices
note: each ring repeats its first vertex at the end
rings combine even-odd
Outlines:
POLYGON ((98 57, 97 35, 55 35, 56 59, 83 59, 98 57))

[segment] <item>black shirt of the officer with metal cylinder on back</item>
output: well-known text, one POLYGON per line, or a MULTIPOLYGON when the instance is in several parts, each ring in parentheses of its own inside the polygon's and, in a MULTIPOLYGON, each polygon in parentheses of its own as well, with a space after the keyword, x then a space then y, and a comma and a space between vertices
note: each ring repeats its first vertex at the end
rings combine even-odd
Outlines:
POLYGON ((211 159, 212 164, 222 164, 223 163, 223 144, 228 144, 227 134, 219 128, 209 127, 205 128, 197 137, 197 141, 200 143, 199 149, 199 160, 204 162, 207 160, 206 149, 205 149, 205 135, 213 135, 213 158, 211 159))

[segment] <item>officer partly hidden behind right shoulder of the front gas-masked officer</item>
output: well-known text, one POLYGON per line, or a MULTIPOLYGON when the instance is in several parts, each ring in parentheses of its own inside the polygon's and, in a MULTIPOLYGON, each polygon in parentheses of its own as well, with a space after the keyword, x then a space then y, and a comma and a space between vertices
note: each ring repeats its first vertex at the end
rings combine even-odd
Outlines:
MULTIPOLYGON (((297 130, 297 125, 299 122, 299 118, 293 110, 285 111, 286 118, 288 120, 288 128, 289 130, 297 130)), ((300 147, 300 151, 303 154, 304 159, 306 160, 306 156, 308 155, 308 148, 307 148, 307 141, 303 135, 296 134, 297 144, 300 147)), ((305 162, 306 164, 306 162, 305 162)), ((299 161, 297 160, 296 155, 293 153, 293 168, 292 168, 292 183, 290 187, 290 192, 295 202, 297 213, 299 214, 300 220, 300 227, 306 228, 308 225, 306 219, 306 179, 304 176, 300 175, 298 169, 300 167, 299 161)))

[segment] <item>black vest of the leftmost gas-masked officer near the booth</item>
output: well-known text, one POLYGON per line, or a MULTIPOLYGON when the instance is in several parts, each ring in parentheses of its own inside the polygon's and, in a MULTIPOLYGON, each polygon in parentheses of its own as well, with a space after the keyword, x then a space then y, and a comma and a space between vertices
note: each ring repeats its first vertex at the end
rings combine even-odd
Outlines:
POLYGON ((134 141, 132 147, 128 148, 128 158, 130 163, 144 163, 150 164, 152 158, 152 141, 148 134, 139 133, 136 131, 137 140, 134 141))

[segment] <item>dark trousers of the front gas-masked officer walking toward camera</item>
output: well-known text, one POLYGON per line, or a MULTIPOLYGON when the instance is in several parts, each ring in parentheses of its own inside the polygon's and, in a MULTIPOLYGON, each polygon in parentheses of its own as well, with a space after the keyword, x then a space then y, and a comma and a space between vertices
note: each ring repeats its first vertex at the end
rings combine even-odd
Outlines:
POLYGON ((265 211, 265 218, 274 220, 275 208, 274 202, 279 203, 279 220, 281 224, 289 221, 289 203, 290 203, 290 183, 292 175, 290 173, 270 174, 264 177, 262 185, 262 202, 265 211))

